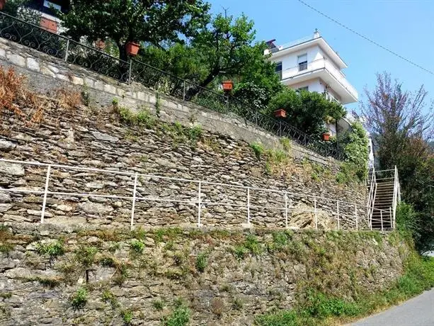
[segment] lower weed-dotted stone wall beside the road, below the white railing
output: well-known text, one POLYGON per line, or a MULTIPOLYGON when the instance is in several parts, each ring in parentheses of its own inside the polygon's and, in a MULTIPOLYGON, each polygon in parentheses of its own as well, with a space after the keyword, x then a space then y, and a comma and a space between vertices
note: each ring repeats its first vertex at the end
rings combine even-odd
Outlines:
POLYGON ((408 253, 394 233, 7 223, 0 324, 161 325, 188 309, 188 325, 253 325, 309 289, 350 298, 384 288, 408 253))

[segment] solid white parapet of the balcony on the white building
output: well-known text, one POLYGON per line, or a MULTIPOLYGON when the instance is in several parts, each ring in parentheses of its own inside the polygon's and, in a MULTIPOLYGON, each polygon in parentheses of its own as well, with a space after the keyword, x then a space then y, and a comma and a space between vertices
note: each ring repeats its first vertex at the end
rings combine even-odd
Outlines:
POLYGON ((331 76, 336 79, 336 81, 341 84, 341 86, 346 89, 350 94, 355 97, 358 97, 358 91, 354 88, 353 85, 346 79, 345 74, 341 72, 341 69, 336 68, 336 66, 330 60, 326 58, 321 58, 318 60, 313 60, 311 62, 307 62, 307 64, 303 64, 303 69, 300 69, 300 65, 286 68, 282 70, 281 79, 288 79, 291 77, 296 77, 297 75, 306 74, 307 72, 314 72, 319 69, 326 69, 331 76))

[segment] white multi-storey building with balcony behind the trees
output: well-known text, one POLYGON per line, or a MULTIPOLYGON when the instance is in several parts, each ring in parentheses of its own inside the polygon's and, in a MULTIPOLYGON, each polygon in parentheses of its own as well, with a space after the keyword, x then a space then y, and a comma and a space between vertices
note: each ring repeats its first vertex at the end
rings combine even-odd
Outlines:
MULTIPOLYGON (((267 45, 265 55, 271 53, 270 60, 276 63, 276 73, 282 84, 296 90, 325 94, 328 99, 341 104, 358 101, 358 92, 342 72, 348 67, 347 64, 319 35, 318 30, 309 38, 285 45, 275 45, 275 40, 270 40, 267 45)), ((336 135, 336 125, 339 133, 348 130, 352 122, 348 118, 327 125, 332 135, 336 135)))

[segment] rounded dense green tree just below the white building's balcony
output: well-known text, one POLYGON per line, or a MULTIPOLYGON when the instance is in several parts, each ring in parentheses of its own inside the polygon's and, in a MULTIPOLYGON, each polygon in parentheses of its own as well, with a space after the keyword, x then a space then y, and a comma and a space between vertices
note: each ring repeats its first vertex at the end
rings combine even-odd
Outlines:
POLYGON ((309 135, 323 133, 327 117, 338 120, 346 115, 341 104, 327 100, 324 94, 293 89, 275 95, 268 104, 268 113, 273 115, 280 108, 286 111, 287 123, 309 135))

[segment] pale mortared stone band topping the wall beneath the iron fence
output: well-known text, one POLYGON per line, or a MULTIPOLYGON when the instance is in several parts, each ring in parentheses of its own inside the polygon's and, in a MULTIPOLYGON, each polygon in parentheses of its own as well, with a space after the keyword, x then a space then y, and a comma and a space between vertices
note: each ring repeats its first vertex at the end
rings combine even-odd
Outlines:
MULTIPOLYGON (((152 111, 159 98, 160 118, 166 122, 179 121, 188 125, 194 116, 205 130, 228 135, 235 140, 261 142, 268 148, 280 146, 278 137, 237 116, 224 115, 191 102, 157 94, 142 84, 122 84, 4 38, 0 38, 0 65, 14 67, 27 77, 29 86, 41 94, 50 94, 60 87, 74 85, 88 92, 95 106, 110 105, 113 98, 117 98, 122 106, 133 110, 138 106, 147 106, 152 111)), ((321 164, 337 164, 334 159, 321 157, 296 144, 292 145, 292 155, 297 158, 307 157, 321 164)))

